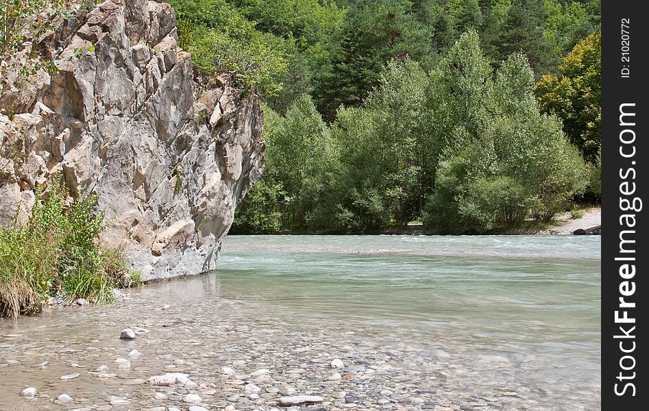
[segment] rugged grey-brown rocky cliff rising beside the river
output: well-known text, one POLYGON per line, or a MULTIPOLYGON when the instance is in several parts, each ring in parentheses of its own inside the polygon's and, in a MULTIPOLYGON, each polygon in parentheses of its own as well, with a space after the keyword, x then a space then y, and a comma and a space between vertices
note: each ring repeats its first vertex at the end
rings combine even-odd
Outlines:
POLYGON ((258 99, 201 77, 166 3, 104 1, 33 47, 59 71, 2 90, 0 222, 25 221, 60 173, 73 197, 97 194, 101 240, 144 279, 212 269, 264 165, 258 99))

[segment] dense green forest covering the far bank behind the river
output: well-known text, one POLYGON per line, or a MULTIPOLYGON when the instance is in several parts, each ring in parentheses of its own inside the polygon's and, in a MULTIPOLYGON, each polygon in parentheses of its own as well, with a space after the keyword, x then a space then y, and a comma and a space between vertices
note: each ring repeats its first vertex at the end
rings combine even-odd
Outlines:
POLYGON ((173 0, 264 102, 232 232, 503 232, 600 196, 600 2, 173 0))

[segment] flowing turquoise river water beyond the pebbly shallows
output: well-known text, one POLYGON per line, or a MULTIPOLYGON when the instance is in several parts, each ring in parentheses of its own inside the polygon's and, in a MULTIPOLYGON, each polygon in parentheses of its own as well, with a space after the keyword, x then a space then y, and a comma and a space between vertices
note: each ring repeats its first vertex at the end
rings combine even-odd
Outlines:
POLYGON ((274 318, 442 350, 458 391, 600 408, 599 236, 229 236, 216 275, 274 318))

